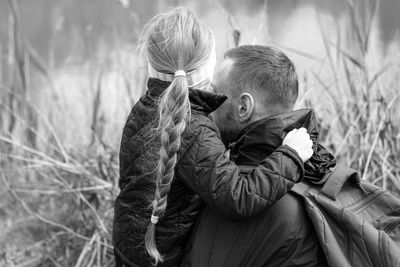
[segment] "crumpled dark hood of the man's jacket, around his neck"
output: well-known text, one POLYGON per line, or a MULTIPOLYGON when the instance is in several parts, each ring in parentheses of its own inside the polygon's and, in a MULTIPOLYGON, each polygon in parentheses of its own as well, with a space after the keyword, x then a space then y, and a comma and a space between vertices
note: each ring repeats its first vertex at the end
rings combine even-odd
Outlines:
POLYGON ((305 164, 304 179, 322 184, 323 177, 336 165, 335 157, 318 144, 318 126, 312 109, 300 109, 255 121, 244 128, 230 145, 231 158, 237 164, 258 165, 282 144, 284 136, 305 127, 314 143, 314 154, 305 164))

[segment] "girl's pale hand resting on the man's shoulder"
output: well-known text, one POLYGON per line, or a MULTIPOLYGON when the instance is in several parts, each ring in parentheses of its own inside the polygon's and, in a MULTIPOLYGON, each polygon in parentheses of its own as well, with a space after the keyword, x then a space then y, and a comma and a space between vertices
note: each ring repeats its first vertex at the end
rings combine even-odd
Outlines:
POLYGON ((304 127, 290 131, 283 139, 282 145, 296 150, 303 162, 309 160, 314 153, 313 142, 304 127))

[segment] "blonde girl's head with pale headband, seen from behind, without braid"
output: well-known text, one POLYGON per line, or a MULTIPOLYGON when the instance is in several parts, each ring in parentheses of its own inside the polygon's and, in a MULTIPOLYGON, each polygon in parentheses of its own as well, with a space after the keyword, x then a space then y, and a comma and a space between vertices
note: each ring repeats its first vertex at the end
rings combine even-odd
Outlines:
POLYGON ((140 42, 150 77, 173 82, 175 72, 183 70, 189 88, 209 88, 216 63, 214 36, 188 9, 155 16, 140 42))

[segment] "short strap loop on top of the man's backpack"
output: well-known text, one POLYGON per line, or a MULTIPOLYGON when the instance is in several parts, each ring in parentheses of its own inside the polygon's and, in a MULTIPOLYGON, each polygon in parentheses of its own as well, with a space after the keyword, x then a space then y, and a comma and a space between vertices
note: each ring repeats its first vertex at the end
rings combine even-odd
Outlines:
POLYGON ((322 186, 320 192, 333 200, 336 200, 336 196, 346 181, 350 180, 357 185, 361 183, 357 171, 345 166, 336 165, 333 171, 327 175, 329 175, 329 177, 322 186))

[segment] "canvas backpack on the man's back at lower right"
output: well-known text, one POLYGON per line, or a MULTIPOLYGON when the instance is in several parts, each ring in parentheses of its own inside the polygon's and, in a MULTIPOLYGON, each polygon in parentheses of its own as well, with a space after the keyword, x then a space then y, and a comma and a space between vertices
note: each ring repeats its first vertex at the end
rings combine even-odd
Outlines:
POLYGON ((400 199, 337 166, 326 182, 297 183, 331 267, 400 266, 400 199))

